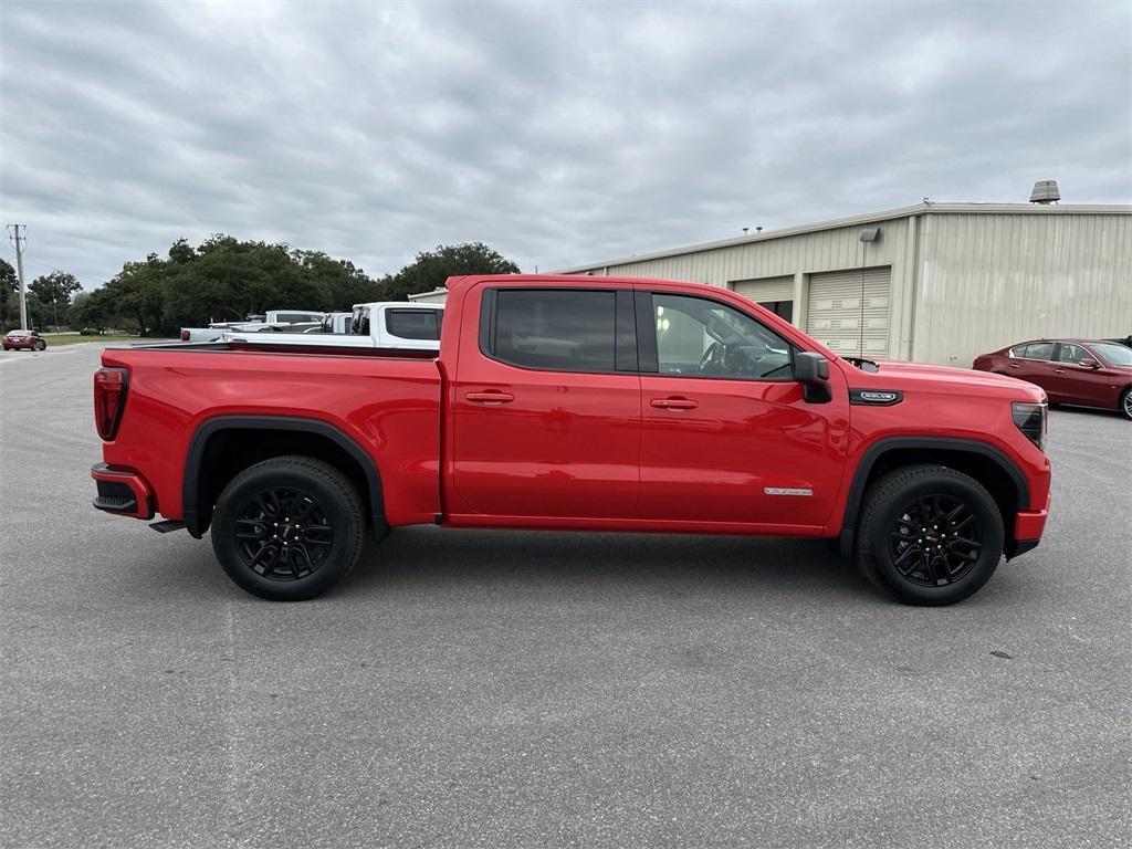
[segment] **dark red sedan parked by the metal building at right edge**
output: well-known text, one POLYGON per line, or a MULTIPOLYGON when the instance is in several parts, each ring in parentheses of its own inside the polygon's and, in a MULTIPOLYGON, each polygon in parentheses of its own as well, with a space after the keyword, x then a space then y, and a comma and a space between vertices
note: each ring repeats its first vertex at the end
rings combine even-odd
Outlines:
POLYGON ((974 368, 1036 384, 1053 404, 1118 410, 1132 419, 1132 349, 1116 342, 1034 340, 980 354, 974 368))

